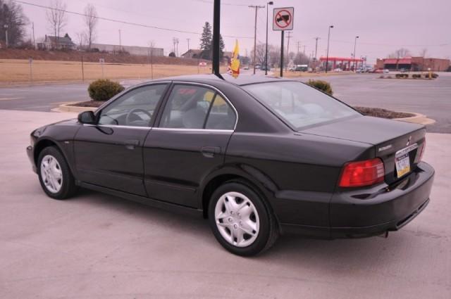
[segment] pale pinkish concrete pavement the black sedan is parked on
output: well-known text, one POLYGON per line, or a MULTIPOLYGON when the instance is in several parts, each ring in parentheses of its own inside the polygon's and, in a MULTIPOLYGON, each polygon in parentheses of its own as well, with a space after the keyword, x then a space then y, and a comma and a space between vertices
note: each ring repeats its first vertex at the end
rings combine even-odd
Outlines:
POLYGON ((72 113, 0 110, 0 298, 451 298, 451 135, 427 134, 431 203, 389 238, 282 237, 223 250, 204 220, 92 191, 44 195, 32 129, 72 113))

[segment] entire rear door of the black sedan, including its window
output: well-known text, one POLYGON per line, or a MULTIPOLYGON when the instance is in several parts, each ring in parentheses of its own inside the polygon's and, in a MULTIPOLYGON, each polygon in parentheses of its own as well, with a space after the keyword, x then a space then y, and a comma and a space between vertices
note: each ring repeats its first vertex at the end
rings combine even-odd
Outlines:
POLYGON ((175 84, 159 127, 144 143, 149 197, 198 208, 199 184, 222 167, 236 120, 235 110, 216 89, 175 84))

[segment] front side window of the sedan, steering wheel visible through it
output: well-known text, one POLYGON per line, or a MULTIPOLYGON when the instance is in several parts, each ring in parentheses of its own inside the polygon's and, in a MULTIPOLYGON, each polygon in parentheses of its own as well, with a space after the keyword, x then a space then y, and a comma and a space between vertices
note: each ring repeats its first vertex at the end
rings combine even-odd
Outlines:
POLYGON ((101 110, 99 125, 149 127, 166 84, 138 87, 101 110))

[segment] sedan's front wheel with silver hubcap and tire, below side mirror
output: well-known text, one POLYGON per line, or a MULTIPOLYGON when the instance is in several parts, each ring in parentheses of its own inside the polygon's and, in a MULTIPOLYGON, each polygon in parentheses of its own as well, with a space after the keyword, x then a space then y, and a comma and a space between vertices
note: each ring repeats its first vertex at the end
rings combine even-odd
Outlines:
POLYGON ((42 189, 51 198, 69 198, 77 189, 66 159, 54 146, 44 148, 39 153, 38 174, 42 189))

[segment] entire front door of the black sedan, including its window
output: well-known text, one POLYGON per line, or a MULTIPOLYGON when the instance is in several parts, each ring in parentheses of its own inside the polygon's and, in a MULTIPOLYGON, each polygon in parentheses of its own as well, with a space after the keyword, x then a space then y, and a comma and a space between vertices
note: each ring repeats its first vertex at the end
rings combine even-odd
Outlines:
POLYGON ((97 125, 80 128, 74 146, 80 180, 147 196, 142 145, 167 86, 131 89, 97 113, 97 125))

